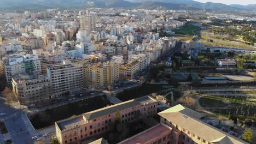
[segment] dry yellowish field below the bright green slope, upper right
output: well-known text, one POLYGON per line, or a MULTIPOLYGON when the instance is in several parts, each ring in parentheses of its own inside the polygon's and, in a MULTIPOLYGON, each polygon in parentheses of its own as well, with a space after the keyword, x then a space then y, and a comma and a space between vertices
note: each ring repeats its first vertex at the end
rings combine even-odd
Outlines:
POLYGON ((248 50, 255 50, 255 46, 243 44, 237 41, 228 41, 222 40, 222 38, 226 37, 226 35, 219 35, 209 33, 207 31, 202 32, 202 39, 199 40, 199 43, 204 43, 206 46, 217 46, 217 47, 234 47, 238 49, 248 49, 248 50), (207 41, 208 39, 212 39, 213 42, 207 41))

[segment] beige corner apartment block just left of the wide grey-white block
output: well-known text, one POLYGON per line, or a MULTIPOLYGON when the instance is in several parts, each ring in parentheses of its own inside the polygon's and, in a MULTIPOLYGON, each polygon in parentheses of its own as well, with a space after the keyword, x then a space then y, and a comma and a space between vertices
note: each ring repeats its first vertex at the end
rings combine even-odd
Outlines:
POLYGON ((21 105, 51 99, 53 87, 49 77, 39 73, 16 74, 12 78, 13 93, 21 105))

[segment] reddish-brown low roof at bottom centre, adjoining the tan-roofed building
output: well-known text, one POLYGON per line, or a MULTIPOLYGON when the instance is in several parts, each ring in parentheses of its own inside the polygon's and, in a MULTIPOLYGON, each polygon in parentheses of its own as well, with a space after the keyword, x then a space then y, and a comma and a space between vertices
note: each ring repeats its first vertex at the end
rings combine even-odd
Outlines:
POLYGON ((156 127, 153 127, 146 131, 142 131, 142 133, 139 133, 136 136, 130 137, 129 139, 126 139, 126 140, 120 142, 119 144, 121 144, 121 143, 126 143, 126 144, 147 143, 154 139, 156 141, 156 140, 158 140, 159 136, 166 135, 168 133, 171 133, 171 129, 165 127, 162 124, 159 124, 159 125, 156 125, 156 127))

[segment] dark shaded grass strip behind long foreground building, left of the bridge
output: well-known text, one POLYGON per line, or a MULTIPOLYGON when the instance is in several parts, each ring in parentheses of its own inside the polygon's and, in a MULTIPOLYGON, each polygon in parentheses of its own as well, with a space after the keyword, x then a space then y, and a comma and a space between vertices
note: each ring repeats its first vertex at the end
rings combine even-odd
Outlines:
POLYGON ((30 121, 35 129, 41 129, 53 125, 56 121, 66 119, 72 116, 81 115, 82 113, 101 109, 109 105, 106 95, 98 96, 90 99, 84 99, 75 103, 69 103, 55 107, 53 109, 46 109, 44 111, 28 115, 30 121))

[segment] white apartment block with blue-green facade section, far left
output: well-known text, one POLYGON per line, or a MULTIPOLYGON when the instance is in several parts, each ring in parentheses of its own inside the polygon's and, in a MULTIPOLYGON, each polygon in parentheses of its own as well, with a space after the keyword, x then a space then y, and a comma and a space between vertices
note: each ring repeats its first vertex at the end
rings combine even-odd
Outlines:
POLYGON ((8 86, 11 87, 11 76, 15 74, 41 71, 41 63, 37 55, 17 52, 4 59, 4 71, 8 86))

